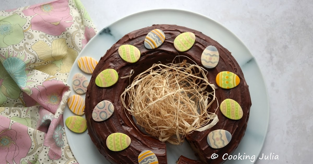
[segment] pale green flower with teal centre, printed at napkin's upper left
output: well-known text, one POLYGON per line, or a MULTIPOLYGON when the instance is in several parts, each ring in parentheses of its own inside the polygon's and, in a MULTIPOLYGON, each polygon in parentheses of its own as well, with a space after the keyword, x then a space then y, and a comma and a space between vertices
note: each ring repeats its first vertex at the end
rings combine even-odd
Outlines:
POLYGON ((18 44, 24 39, 23 26, 26 19, 18 14, 13 14, 8 17, 0 16, 0 47, 8 47, 13 44, 18 44))

